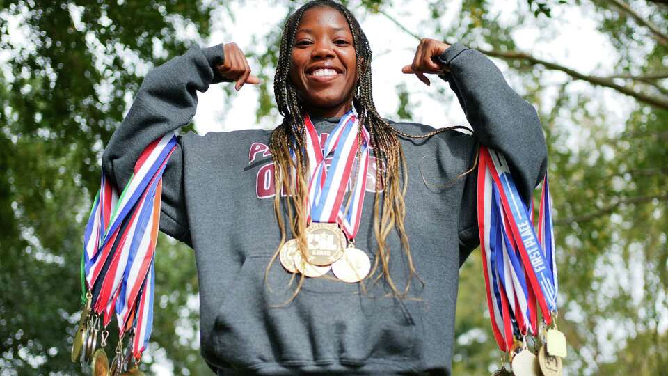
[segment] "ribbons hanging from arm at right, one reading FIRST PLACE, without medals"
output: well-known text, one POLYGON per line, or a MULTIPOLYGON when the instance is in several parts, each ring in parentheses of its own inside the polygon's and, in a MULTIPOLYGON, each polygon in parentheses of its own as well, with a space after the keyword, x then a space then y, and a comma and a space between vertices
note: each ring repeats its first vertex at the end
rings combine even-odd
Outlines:
POLYGON ((477 206, 483 272, 493 334, 510 351, 513 334, 536 334, 536 299, 543 320, 556 311, 556 263, 547 178, 543 180, 539 235, 500 153, 481 147, 477 206), (540 242, 539 242, 540 239, 540 242), (527 280, 529 281, 527 283, 527 280))

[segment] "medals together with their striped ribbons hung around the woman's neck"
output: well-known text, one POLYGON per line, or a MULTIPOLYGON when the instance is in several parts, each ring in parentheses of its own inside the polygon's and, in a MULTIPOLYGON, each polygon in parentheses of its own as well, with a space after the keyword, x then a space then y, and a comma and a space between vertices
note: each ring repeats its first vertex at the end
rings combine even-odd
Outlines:
MULTIPOLYGON (((300 255, 294 258, 294 264, 300 272, 306 272, 305 275, 321 275, 328 269, 314 270, 308 264, 325 267, 337 262, 346 251, 347 238, 353 240, 357 234, 369 166, 370 136, 352 110, 341 118, 324 146, 308 114, 305 115, 304 125, 305 151, 309 160, 307 210, 310 225, 305 231, 305 260, 301 260, 300 255), (358 152, 359 162, 356 162, 358 152), (331 164, 327 169, 325 157, 331 154, 331 164), (351 196, 344 205, 349 182, 351 196)), ((364 268, 363 264, 360 264, 359 270, 349 265, 339 267, 340 274, 349 281, 363 279, 368 273, 363 271, 364 268)))

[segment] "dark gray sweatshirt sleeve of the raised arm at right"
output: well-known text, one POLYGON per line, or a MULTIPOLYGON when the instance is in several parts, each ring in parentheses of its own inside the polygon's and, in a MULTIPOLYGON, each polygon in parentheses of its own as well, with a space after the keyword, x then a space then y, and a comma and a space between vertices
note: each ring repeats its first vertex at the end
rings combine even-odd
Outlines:
MULTIPOLYGON (((518 191, 528 203, 547 166, 547 146, 536 109, 475 49, 457 42, 436 61, 450 68, 439 77, 456 94, 477 142, 503 153, 518 191)), ((476 195, 477 171, 471 171, 466 176, 459 217, 460 265, 479 245, 476 195)))

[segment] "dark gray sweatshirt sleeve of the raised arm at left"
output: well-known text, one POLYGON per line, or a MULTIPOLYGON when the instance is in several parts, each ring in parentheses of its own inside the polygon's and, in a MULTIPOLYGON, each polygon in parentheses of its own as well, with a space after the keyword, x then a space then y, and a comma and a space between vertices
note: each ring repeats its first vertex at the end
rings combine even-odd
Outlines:
MULTIPOLYGON (((127 185, 134 164, 149 143, 190 123, 197 109, 197 92, 207 91, 209 84, 228 81, 215 69, 223 58, 222 44, 204 49, 195 45, 144 77, 132 107, 102 155, 104 171, 119 191, 127 185)), ((163 175, 160 230, 192 246, 181 142, 179 137, 163 175)))

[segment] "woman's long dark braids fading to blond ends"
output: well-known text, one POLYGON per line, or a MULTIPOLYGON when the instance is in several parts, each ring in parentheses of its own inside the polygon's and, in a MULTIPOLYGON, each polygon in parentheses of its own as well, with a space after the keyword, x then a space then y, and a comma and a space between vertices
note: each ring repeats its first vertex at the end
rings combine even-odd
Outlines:
MULTIPOLYGON (((305 256, 306 240, 306 207, 305 198, 308 198, 307 179, 305 171, 308 171, 308 157, 305 155, 305 127, 303 118, 303 106, 299 101, 296 88, 289 77, 289 70, 292 61, 292 49, 294 46, 294 38, 296 31, 307 10, 312 8, 328 7, 340 12, 346 19, 352 36, 353 45, 356 51, 358 77, 355 93, 353 95, 353 105, 358 114, 360 125, 365 127, 369 132, 371 139, 370 143, 374 148, 374 155, 376 157, 376 195, 374 197, 374 233, 378 248, 376 249, 376 257, 374 258, 374 265, 369 276, 374 276, 376 270, 380 267, 382 273, 378 274, 374 281, 378 281, 381 276, 385 276, 385 281, 392 289, 392 294, 403 298, 408 293, 415 267, 411 258, 411 249, 408 246, 408 237, 404 227, 405 203, 404 196, 406 194, 407 172, 406 162, 404 160, 404 152, 401 149, 399 138, 397 135, 406 137, 429 137, 438 132, 443 132, 447 128, 434 130, 422 135, 411 135, 399 132, 399 130, 391 127, 376 110, 374 104, 372 91, 372 77, 371 77, 371 61, 372 52, 369 45, 369 40, 363 32, 357 19, 350 13, 350 11, 340 3, 331 0, 314 0, 306 3, 296 10, 285 22, 283 28, 283 35, 280 39, 280 54, 278 63, 276 65, 276 76, 274 78, 274 94, 276 96, 276 104, 278 111, 283 116, 283 123, 281 123, 271 133, 269 147, 274 164, 274 187, 276 187, 276 195, 274 197, 274 211, 278 219, 280 227, 281 240, 274 253, 273 258, 267 266, 265 272, 265 282, 271 268, 271 263, 276 260, 280 249, 285 244, 286 230, 284 221, 284 212, 281 207, 287 212, 289 218, 289 228, 292 230, 292 235, 299 244, 299 250, 305 256), (292 154, 291 154, 292 150, 292 154), (293 157, 294 154, 294 157, 293 157), (285 198, 283 205, 281 203, 281 194, 279 191, 283 187, 285 198), (384 191, 382 197, 379 191, 384 191), (401 248, 406 252, 406 259, 408 261, 408 282, 403 292, 395 285, 389 273, 390 251, 386 244, 386 239, 393 228, 396 228, 399 238, 401 240, 401 248)), ((362 142, 362 127, 358 132, 358 143, 362 142)), ((358 151, 359 153, 359 151, 358 151)), ((304 257, 304 259, 306 259, 304 257)), ((325 276, 326 277, 326 276, 325 276)), ((293 276, 294 278, 294 276, 293 276)), ((419 277, 417 277, 419 279, 419 277)), ((286 304, 296 297, 303 283, 304 276, 299 279, 297 288, 294 290, 292 297, 286 304)), ((365 290, 364 284, 362 285, 365 290)))

